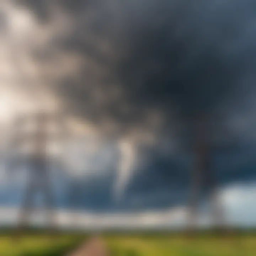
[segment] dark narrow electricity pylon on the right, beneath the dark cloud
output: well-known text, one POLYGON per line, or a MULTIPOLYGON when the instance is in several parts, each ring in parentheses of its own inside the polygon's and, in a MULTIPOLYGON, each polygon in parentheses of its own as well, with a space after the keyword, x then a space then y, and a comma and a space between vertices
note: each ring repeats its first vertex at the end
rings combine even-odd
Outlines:
POLYGON ((192 171, 192 182, 190 191, 190 201, 188 208, 188 230, 193 231, 197 225, 198 208, 203 190, 207 190, 210 195, 210 208, 212 217, 212 227, 223 229, 225 225, 224 209, 217 192, 217 175, 213 170, 213 155, 218 147, 210 142, 209 123, 204 117, 196 120, 194 130, 195 136, 195 165, 192 171))

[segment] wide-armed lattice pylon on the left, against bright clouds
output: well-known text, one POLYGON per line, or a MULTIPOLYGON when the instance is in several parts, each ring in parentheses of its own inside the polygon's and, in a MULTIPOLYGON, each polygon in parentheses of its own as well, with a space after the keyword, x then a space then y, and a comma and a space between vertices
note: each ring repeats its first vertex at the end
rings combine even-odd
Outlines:
POLYGON ((36 195, 43 196, 43 213, 47 226, 55 227, 54 195, 50 178, 50 144, 63 143, 65 138, 65 119, 60 113, 37 112, 19 115, 15 119, 13 146, 18 152, 18 166, 21 160, 26 163, 29 175, 26 191, 18 215, 18 226, 25 228, 30 223, 32 212, 36 209, 36 195), (54 127, 54 130, 51 128, 54 127), (26 145, 29 150, 26 151, 26 145), (25 148, 25 149, 24 149, 25 148))

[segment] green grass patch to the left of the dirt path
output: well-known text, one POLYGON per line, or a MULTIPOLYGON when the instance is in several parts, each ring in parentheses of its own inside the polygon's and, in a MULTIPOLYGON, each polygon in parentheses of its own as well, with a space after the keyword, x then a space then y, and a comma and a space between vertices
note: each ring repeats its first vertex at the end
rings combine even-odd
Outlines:
POLYGON ((78 246, 81 235, 0 235, 0 256, 63 256, 78 246))

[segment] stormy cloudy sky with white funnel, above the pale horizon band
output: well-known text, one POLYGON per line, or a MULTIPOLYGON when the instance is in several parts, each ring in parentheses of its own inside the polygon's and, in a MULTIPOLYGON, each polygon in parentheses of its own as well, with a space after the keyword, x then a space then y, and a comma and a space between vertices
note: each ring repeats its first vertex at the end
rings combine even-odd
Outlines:
POLYGON ((252 0, 2 0, 0 203, 17 205, 27 180, 26 166, 6 167, 13 121, 42 110, 64 113, 69 130, 62 165, 51 165, 58 208, 185 206, 198 116, 218 188, 250 193, 255 8, 252 0))

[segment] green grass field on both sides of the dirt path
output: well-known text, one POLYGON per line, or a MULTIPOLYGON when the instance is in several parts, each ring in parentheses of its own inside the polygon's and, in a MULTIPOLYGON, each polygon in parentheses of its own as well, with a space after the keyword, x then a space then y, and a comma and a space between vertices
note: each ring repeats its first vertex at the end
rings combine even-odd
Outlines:
MULTIPOLYGON (((85 235, 0 234, 0 256, 65 256, 85 235)), ((105 234, 110 256, 255 256, 256 234, 105 234)))

